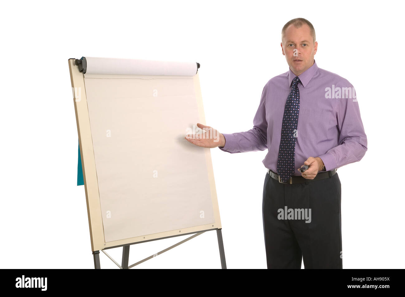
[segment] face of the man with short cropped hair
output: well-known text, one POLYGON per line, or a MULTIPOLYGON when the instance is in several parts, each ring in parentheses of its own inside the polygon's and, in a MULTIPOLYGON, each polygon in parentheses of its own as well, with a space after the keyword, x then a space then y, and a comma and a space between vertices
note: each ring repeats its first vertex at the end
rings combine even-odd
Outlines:
POLYGON ((296 76, 313 65, 313 56, 317 48, 318 42, 314 44, 307 24, 303 24, 301 28, 296 28, 294 25, 287 27, 281 49, 286 56, 288 66, 296 76))

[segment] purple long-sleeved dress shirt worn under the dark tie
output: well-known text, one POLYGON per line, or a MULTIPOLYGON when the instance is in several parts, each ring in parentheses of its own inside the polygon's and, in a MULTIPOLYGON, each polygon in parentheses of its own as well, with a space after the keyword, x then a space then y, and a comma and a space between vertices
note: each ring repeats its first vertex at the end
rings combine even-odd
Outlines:
MULTIPOLYGON (((275 76, 263 88, 259 108, 249 131, 224 134, 224 152, 255 152, 268 149, 262 161, 277 173, 284 107, 296 75, 275 76)), ((320 157, 326 171, 360 161, 367 151, 354 87, 345 78, 318 68, 316 62, 300 74, 300 108, 295 143, 295 173, 309 157, 320 157)))

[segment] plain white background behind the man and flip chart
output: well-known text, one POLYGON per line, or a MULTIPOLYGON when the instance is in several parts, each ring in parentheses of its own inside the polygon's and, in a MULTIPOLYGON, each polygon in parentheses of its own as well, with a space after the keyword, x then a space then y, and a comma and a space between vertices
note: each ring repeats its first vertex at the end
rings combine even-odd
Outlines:
MULTIPOLYGON (((400 4, 145 2, 2 4, 0 267, 93 268, 84 186, 76 186, 69 58, 197 61, 206 124, 247 131, 264 84, 288 71, 281 28, 304 17, 315 27, 318 67, 355 86, 368 138, 364 158, 338 170, 343 268, 404 268, 400 4)), ((211 155, 228 268, 266 268, 266 151, 214 148, 211 155)), ((130 264, 183 238, 132 245, 130 264)), ((121 251, 108 253, 120 262, 121 251)), ((102 268, 117 268, 102 253, 100 259, 102 268)), ((135 269, 220 267, 211 231, 135 269)))

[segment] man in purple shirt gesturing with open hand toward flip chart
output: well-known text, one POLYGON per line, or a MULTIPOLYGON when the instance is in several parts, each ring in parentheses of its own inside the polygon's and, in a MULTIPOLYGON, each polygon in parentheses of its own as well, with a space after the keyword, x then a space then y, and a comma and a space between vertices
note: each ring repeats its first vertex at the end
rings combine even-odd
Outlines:
POLYGON ((267 268, 301 268, 302 259, 305 268, 342 268, 336 169, 367 151, 358 102, 350 82, 316 65, 318 42, 309 21, 286 23, 281 40, 290 69, 264 86, 254 127, 220 134, 216 142, 186 139, 231 154, 268 149, 262 203, 267 268), (301 172, 303 165, 309 168, 301 172))

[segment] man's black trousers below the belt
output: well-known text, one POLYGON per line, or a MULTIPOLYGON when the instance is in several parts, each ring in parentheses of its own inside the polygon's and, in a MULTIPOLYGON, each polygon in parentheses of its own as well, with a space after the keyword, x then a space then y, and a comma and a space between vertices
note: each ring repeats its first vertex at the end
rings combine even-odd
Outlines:
POLYGON ((294 184, 279 183, 266 173, 262 211, 267 268, 301 269, 302 259, 305 269, 342 268, 341 183, 337 173, 294 184))

